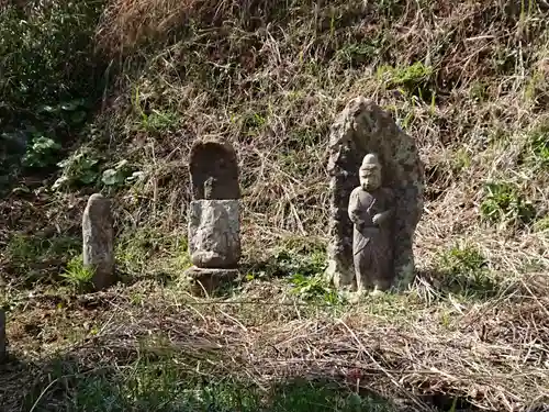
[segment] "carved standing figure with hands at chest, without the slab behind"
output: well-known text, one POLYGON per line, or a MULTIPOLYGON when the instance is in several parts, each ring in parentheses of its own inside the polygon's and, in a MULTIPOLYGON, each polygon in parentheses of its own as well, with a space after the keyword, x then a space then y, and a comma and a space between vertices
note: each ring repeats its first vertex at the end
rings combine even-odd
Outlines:
POLYGON ((378 156, 368 154, 359 169, 360 186, 349 199, 354 224, 352 256, 357 289, 385 290, 391 286, 394 263, 394 196, 381 187, 378 156))

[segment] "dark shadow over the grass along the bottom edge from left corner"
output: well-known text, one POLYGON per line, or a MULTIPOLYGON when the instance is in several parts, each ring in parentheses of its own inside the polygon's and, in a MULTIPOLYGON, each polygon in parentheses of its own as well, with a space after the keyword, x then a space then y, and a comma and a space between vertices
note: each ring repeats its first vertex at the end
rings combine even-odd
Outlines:
POLYGON ((12 361, 0 377, 2 411, 402 410, 388 399, 356 392, 334 380, 292 378, 259 386, 236 377, 244 376, 244 371, 235 371, 234 377, 201 375, 181 360, 182 357, 142 357, 116 367, 85 365, 70 356, 45 365, 12 361))

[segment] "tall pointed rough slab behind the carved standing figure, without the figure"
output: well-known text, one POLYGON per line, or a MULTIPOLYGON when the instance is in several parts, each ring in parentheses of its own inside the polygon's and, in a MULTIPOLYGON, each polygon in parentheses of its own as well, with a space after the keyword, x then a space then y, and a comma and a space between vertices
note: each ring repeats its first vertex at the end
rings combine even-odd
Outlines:
POLYGON ((340 288, 357 288, 354 267, 349 198, 359 186, 365 156, 377 154, 383 165, 381 186, 394 196, 394 265, 386 289, 405 286, 414 277, 413 235, 423 213, 424 166, 414 140, 376 103, 357 98, 330 129, 328 172, 330 218, 327 275, 340 288))

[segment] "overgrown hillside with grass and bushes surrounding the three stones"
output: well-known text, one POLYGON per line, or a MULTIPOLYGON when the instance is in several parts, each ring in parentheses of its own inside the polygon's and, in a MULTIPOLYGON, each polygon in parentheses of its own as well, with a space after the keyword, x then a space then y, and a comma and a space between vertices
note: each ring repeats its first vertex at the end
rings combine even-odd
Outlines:
MULTIPOLYGON (((81 357, 78 374, 100 353, 104 367, 135 366, 142 332, 164 336, 171 320, 160 346, 200 353, 182 337, 195 326, 226 350, 212 376, 238 365, 260 388, 358 363, 369 378, 352 385, 430 396, 412 397, 417 410, 441 396, 527 410, 549 396, 547 2, 111 0, 0 13, 0 302, 30 365, 60 350, 81 357), (316 275, 328 127, 357 96, 416 140, 427 199, 416 285, 351 305, 316 275), (203 136, 232 142, 242 170, 248 272, 217 305, 179 281, 188 154, 203 136), (78 266, 81 212, 98 190, 115 199, 123 275, 104 296, 86 293, 78 266)), ((53 410, 63 396, 38 399, 57 383, 36 370, 20 394, 53 410)), ((80 383, 58 385, 77 408, 80 383)))

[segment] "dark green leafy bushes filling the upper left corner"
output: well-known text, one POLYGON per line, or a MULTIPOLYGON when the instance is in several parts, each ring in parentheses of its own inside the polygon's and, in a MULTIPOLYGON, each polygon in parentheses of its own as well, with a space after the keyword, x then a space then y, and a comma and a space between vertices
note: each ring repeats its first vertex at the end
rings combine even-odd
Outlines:
POLYGON ((60 144, 82 127, 102 76, 92 41, 101 5, 68 0, 2 5, 0 140, 10 149, 0 149, 0 176, 16 176, 21 165, 53 166, 60 144))

